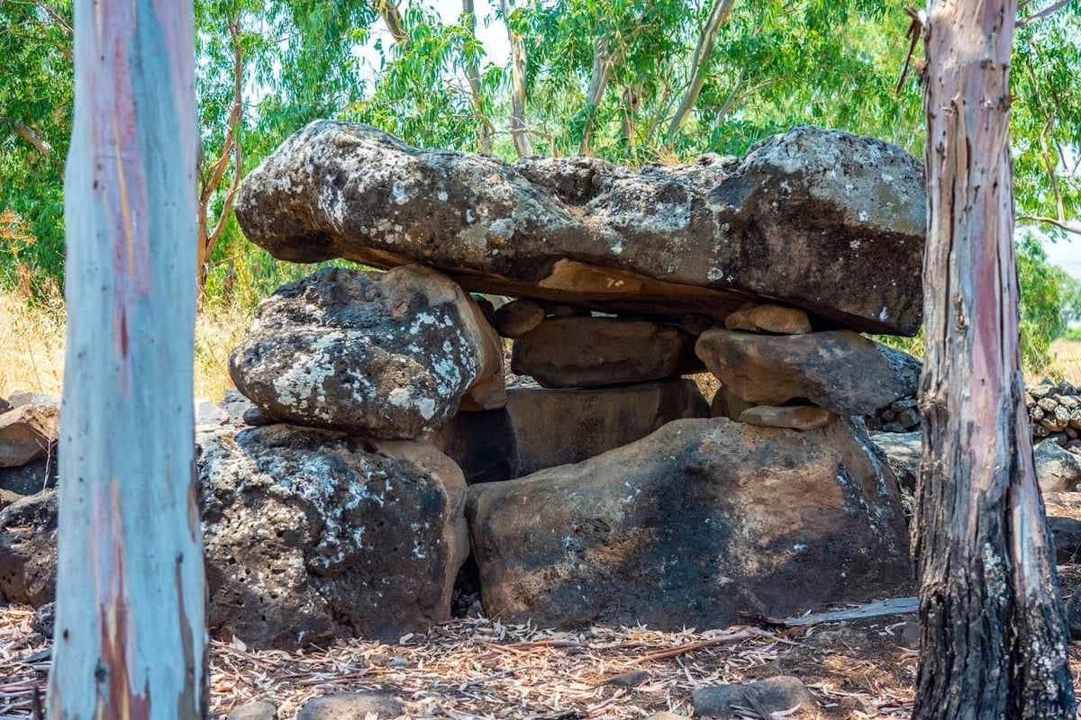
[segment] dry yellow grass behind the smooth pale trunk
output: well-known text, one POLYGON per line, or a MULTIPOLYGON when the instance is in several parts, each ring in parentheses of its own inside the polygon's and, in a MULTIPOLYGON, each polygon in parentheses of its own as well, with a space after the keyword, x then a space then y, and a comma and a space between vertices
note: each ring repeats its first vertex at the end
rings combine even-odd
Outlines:
MULTIPOLYGON (((26 390, 59 395, 64 380, 64 304, 34 307, 0 293, 0 397, 26 390)), ((251 324, 241 311, 206 308, 196 321, 196 397, 221 400, 232 386, 229 352, 251 324)))

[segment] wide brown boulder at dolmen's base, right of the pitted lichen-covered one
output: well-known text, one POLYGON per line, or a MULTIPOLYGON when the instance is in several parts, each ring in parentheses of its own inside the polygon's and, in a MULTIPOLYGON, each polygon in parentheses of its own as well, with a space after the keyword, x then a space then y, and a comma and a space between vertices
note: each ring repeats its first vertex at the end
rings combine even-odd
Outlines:
POLYGON ((862 425, 677 420, 576 465, 469 488, 506 622, 712 627, 911 592, 895 481, 862 425))

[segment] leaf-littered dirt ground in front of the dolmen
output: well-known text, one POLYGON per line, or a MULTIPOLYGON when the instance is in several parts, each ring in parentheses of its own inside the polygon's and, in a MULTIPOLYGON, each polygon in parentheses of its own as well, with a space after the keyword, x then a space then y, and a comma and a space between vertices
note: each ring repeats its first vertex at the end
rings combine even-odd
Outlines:
MULTIPOLYGON (((1065 592, 1081 584, 1081 566, 1060 570, 1065 592)), ((28 608, 0 609, 0 718, 32 717, 34 693, 44 695, 49 658, 42 651, 49 643, 31 631, 31 619, 28 608)), ((398 643, 343 640, 299 653, 214 641, 211 708, 214 718, 225 718, 265 698, 286 719, 316 695, 364 690, 393 693, 415 718, 691 716, 695 689, 792 675, 819 707, 788 717, 905 718, 916 677, 915 621, 900 615, 795 628, 562 633, 464 619, 398 643), (644 671, 638 684, 619 684, 617 676, 636 670, 644 671)), ((1081 643, 1070 655, 1078 676, 1081 643)))

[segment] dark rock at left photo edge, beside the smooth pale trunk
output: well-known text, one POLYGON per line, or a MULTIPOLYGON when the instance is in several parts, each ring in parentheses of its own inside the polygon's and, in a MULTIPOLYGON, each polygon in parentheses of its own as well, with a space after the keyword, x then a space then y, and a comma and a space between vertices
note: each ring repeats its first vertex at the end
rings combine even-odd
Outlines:
POLYGON ((0 599, 35 608, 56 598, 56 490, 0 511, 0 599))

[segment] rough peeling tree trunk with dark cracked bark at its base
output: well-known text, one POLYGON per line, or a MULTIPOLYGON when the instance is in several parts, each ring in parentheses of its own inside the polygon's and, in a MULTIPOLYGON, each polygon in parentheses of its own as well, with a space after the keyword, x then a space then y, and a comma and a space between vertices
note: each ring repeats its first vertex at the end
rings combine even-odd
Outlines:
POLYGON ((1007 137, 1016 11, 1012 0, 932 0, 924 26, 919 719, 1075 717, 1017 337, 1007 137))

